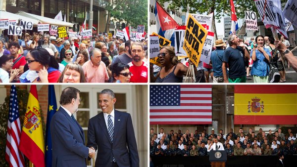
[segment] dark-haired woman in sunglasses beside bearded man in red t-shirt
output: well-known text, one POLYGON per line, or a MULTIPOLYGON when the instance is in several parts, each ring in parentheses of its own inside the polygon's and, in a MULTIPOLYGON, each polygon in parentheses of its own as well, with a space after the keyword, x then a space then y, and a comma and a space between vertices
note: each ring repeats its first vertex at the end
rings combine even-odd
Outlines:
POLYGON ((111 67, 111 74, 115 83, 129 83, 131 72, 129 65, 124 63, 114 63, 111 67))

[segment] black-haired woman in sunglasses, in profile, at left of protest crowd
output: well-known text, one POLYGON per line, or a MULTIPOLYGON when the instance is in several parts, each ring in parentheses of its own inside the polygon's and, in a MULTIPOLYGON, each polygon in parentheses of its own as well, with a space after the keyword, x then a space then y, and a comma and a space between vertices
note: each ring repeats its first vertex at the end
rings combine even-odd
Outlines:
POLYGON ((59 64, 54 56, 44 48, 33 49, 27 54, 27 63, 30 71, 36 71, 38 77, 31 83, 56 83, 61 75, 59 64))

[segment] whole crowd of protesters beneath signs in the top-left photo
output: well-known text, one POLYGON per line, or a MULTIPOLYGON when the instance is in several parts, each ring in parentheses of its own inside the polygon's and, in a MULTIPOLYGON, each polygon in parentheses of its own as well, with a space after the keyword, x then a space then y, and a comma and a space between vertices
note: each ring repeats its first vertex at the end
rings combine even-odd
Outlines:
MULTIPOLYGON (((104 34, 104 33, 103 33, 104 34)), ((0 38, 0 83, 147 83, 147 41, 106 34, 0 38)))

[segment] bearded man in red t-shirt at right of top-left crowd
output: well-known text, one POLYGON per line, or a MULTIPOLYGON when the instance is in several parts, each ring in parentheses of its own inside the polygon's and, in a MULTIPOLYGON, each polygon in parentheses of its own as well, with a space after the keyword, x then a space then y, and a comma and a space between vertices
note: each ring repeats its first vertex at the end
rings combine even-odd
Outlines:
POLYGON ((134 42, 131 45, 132 62, 128 65, 132 73, 131 83, 147 83, 148 82, 148 65, 144 62, 143 55, 145 54, 144 45, 140 42, 134 42))

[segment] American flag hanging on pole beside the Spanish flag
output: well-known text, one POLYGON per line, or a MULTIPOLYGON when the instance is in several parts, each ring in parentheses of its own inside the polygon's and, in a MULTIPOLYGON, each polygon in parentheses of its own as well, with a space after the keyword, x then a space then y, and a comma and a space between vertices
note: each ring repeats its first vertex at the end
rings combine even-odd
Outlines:
POLYGON ((5 159, 9 163, 9 167, 25 166, 24 156, 19 151, 20 136, 21 123, 19 119, 16 88, 15 85, 11 85, 5 152, 5 159))

